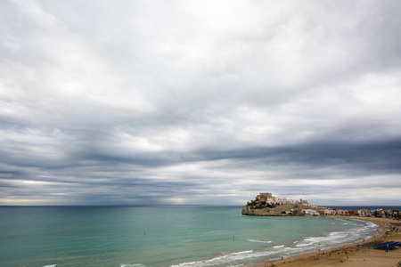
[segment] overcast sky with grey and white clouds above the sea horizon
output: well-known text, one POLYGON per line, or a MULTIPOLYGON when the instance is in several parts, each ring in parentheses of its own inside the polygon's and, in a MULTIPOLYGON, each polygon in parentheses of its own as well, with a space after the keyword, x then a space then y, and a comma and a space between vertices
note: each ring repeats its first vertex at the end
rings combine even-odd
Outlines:
POLYGON ((401 206, 401 2, 0 2, 0 205, 401 206))

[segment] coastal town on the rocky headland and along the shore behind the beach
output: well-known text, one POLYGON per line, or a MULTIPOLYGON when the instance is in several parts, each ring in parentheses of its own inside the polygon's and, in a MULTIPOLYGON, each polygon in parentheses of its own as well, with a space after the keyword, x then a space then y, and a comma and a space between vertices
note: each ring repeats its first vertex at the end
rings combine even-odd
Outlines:
POLYGON ((276 198, 272 193, 260 193, 243 206, 243 215, 253 216, 360 216, 360 217, 381 217, 400 219, 401 212, 398 210, 383 210, 382 208, 356 210, 331 209, 330 207, 312 205, 307 200, 300 198, 292 200, 287 198, 276 198))

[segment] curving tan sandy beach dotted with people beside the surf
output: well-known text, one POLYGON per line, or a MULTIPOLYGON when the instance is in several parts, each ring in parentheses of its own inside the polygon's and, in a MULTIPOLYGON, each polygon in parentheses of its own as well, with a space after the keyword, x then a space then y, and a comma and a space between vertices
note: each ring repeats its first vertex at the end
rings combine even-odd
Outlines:
MULTIPOLYGON (((364 248, 375 242, 380 241, 401 241, 401 232, 388 233, 392 226, 390 223, 400 223, 397 220, 387 218, 374 218, 374 217, 359 217, 359 216, 330 216, 338 217, 341 219, 355 219, 362 221, 369 221, 372 223, 381 223, 383 231, 373 239, 365 240, 355 244, 350 244, 343 247, 332 247, 325 251, 316 251, 315 253, 308 253, 304 255, 295 255, 273 262, 252 264, 253 267, 270 267, 272 263, 274 266, 397 266, 401 262, 401 248, 393 249, 385 252, 379 249, 364 248), (361 246, 358 249, 358 245, 361 246)), ((397 226, 400 228, 400 226, 397 226)))

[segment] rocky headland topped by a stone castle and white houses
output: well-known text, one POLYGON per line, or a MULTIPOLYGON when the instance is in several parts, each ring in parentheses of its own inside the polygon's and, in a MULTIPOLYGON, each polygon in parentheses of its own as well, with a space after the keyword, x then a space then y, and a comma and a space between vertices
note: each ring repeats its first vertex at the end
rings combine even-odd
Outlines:
POLYGON ((292 200, 275 198, 272 193, 260 193, 242 208, 242 215, 255 216, 304 216, 325 214, 325 207, 311 205, 307 200, 300 198, 292 200))

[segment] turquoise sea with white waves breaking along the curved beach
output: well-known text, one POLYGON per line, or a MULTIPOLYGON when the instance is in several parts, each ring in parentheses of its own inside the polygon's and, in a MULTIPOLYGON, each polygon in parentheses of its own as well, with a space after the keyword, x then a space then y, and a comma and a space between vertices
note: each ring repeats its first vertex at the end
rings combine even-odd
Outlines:
POLYGON ((0 266, 234 266, 366 239, 373 223, 238 206, 0 207, 0 266))

